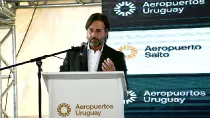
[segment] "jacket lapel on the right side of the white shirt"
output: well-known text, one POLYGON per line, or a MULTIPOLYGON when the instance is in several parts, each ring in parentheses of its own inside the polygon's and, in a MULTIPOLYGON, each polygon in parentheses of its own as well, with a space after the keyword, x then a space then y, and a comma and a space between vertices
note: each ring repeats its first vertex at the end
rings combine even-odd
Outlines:
POLYGON ((97 71, 102 71, 102 63, 105 59, 108 58, 108 46, 106 45, 106 43, 104 43, 104 48, 103 48, 103 51, 102 51, 102 54, 101 54, 101 57, 100 57, 100 60, 99 60, 99 63, 98 63, 98 69, 97 71))

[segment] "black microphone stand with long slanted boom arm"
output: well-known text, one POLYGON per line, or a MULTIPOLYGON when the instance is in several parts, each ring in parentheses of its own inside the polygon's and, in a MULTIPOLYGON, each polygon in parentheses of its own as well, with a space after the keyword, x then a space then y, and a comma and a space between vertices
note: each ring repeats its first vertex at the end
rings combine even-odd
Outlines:
POLYGON ((68 50, 64 50, 64 51, 60 51, 60 52, 57 52, 57 53, 53 53, 53 54, 50 54, 50 55, 44 55, 44 56, 41 56, 41 57, 37 57, 37 58, 34 58, 34 59, 31 59, 29 61, 25 61, 25 62, 22 62, 22 63, 18 63, 18 64, 14 64, 14 65, 11 65, 11 66, 7 66, 7 67, 4 67, 4 68, 0 68, 0 71, 2 70, 5 70, 5 69, 9 69, 9 68, 13 68, 13 67, 16 67, 16 66, 20 66, 20 65, 23 65, 23 64, 27 64, 27 63, 33 63, 33 62, 36 62, 36 65, 38 66, 38 100, 39 100, 39 118, 42 118, 42 107, 41 107, 41 72, 42 72, 42 59, 46 59, 48 57, 51 57, 51 56, 55 56, 55 55, 58 55, 58 54, 61 54, 61 53, 65 53, 65 52, 68 52, 68 51, 79 51, 81 50, 81 47, 74 47, 72 46, 71 49, 68 49, 68 50))

